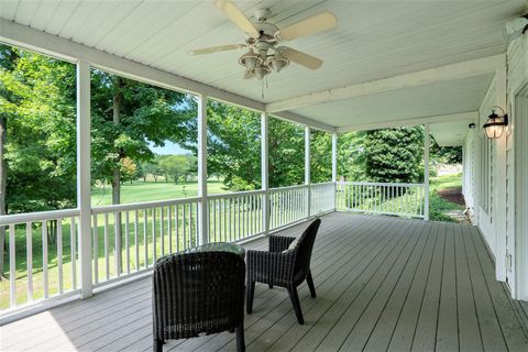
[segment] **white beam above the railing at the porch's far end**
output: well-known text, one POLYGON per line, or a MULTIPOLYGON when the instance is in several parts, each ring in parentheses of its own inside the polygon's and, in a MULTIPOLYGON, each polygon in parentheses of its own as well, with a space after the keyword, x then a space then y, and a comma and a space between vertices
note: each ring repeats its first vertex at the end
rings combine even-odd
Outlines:
POLYGON ((453 122, 453 121, 468 121, 469 123, 476 121, 479 118, 479 112, 463 112, 463 113, 453 113, 453 114, 441 114, 433 117, 421 117, 415 119, 405 119, 397 121, 386 121, 386 122, 376 122, 376 123, 365 123, 365 124, 352 124, 350 127, 338 128, 337 132, 352 132, 352 131, 369 131, 369 130, 378 130, 378 129, 391 129, 391 128, 404 128, 418 124, 431 124, 431 123, 441 123, 441 122, 453 122))

